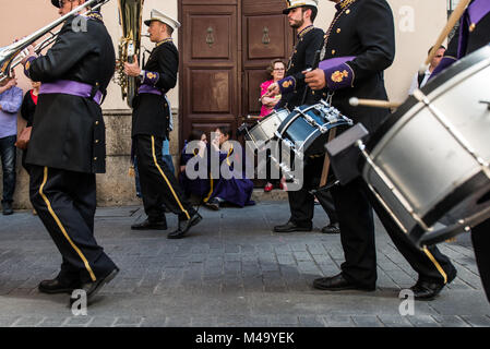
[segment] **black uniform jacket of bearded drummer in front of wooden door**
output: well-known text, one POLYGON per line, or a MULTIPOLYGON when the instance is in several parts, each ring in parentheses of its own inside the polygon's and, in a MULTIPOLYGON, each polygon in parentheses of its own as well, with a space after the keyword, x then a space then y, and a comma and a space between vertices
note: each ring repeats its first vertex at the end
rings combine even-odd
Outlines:
MULTIPOLYGON (((294 89, 288 88, 287 93, 282 94, 280 101, 277 104, 276 109, 287 107, 289 110, 292 110, 295 107, 302 104, 304 88, 307 87, 307 84, 304 84, 304 74, 302 72, 306 69, 313 67, 314 55, 322 48, 323 36, 323 31, 313 26, 307 27, 303 32, 299 33, 298 43, 285 74, 286 79, 283 80, 287 81, 288 77, 292 79, 295 83, 294 89)), ((314 104, 315 100, 318 100, 318 98, 310 93, 308 94, 304 104, 314 104)))

